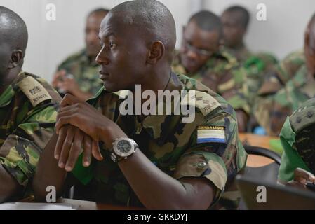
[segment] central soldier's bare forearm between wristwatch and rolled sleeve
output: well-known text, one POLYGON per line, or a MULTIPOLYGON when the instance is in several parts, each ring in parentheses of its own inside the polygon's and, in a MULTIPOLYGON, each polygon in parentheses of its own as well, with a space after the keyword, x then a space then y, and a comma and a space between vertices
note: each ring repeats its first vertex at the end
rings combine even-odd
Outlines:
POLYGON ((206 195, 208 202, 196 200, 198 189, 162 172, 140 150, 121 160, 119 167, 147 209, 207 209, 212 202, 214 190, 206 195))

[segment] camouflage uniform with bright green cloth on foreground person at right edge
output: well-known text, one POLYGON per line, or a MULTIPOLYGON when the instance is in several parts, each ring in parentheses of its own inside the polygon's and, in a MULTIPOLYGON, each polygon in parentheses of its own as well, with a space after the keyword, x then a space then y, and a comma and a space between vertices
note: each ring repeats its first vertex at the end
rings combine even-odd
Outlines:
POLYGON ((304 102, 287 118, 280 139, 283 155, 279 169, 279 182, 293 180, 296 168, 315 174, 315 98, 304 102))

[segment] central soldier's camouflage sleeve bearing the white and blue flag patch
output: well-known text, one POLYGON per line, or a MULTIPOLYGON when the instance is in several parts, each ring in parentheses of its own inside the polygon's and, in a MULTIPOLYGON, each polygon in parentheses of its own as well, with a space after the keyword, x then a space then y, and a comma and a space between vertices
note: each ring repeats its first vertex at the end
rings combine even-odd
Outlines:
MULTIPOLYGON (((224 113, 224 112, 223 112, 224 113)), ((177 162, 175 179, 205 177, 217 188, 217 201, 228 179, 246 164, 246 152, 237 134, 236 120, 224 113, 196 127, 190 147, 177 162)))

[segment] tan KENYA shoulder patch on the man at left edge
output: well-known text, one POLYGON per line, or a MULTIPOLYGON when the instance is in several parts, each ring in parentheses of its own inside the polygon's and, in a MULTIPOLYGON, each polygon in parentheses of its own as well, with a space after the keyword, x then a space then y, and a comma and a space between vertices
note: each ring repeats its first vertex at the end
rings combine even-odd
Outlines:
POLYGON ((23 78, 20 83, 18 83, 18 87, 24 92, 33 106, 36 106, 45 100, 52 99, 51 95, 43 85, 31 76, 23 78))

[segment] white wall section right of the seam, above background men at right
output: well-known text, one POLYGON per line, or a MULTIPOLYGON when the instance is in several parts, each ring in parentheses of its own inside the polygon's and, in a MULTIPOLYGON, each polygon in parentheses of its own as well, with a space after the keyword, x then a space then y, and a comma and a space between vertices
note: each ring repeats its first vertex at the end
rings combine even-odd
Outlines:
POLYGON ((239 4, 251 15, 246 44, 253 52, 269 51, 280 59, 302 48, 304 29, 315 13, 314 0, 205 0, 205 8, 221 14, 225 8, 239 4), (258 3, 267 6, 267 21, 256 19, 258 3))

